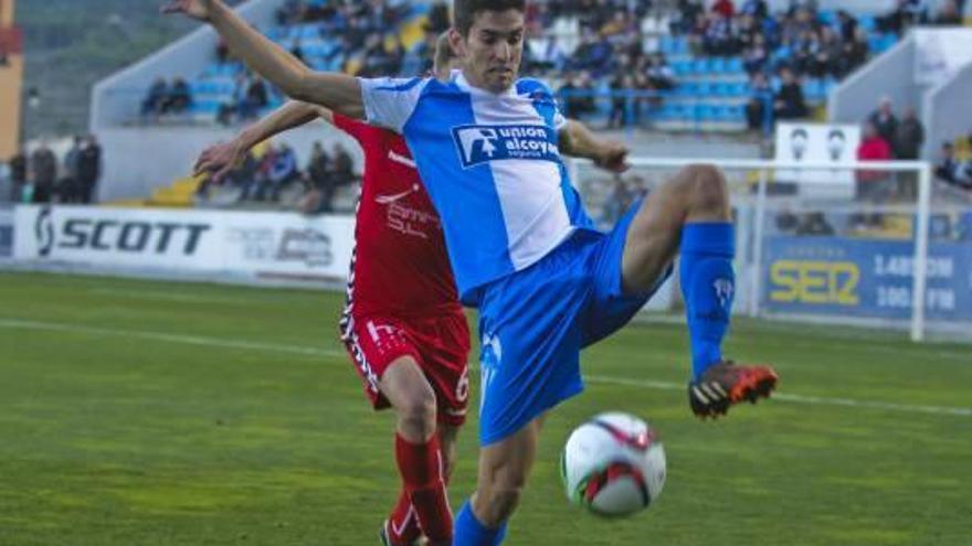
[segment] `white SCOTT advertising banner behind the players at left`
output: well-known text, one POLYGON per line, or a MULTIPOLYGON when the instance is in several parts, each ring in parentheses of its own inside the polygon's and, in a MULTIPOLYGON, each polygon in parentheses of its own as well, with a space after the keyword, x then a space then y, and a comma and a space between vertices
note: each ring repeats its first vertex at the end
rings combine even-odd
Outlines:
POLYGON ((342 280, 353 220, 296 213, 18 206, 13 257, 104 269, 342 280))

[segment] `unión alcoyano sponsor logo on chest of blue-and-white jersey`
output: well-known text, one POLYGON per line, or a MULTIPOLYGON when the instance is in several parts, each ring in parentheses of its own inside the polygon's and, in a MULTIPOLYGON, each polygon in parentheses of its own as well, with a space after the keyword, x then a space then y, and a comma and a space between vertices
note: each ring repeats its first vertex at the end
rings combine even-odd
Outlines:
POLYGON ((505 159, 560 162, 557 132, 543 125, 464 125, 452 135, 465 169, 505 159))

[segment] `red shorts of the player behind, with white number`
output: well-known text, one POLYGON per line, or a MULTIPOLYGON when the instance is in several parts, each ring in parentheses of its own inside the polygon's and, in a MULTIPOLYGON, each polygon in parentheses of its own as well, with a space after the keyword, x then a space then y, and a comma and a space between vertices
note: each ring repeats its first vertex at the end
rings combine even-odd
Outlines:
POLYGON ((469 398, 469 328, 462 311, 435 317, 353 315, 341 339, 374 409, 390 406, 378 389, 389 364, 411 356, 435 390, 439 422, 459 426, 469 398))

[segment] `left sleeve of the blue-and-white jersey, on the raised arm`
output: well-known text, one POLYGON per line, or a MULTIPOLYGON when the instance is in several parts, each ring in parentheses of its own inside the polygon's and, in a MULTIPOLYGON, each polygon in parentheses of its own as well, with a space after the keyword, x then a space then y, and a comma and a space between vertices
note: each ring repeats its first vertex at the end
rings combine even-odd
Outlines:
POLYGON ((429 79, 381 77, 360 82, 368 122, 402 132, 429 79))

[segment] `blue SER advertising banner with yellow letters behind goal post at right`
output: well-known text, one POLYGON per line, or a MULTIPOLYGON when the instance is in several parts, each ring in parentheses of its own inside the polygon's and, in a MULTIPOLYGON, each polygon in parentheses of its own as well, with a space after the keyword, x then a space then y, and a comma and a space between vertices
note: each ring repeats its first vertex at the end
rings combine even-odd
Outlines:
MULTIPOLYGON (((765 308, 774 312, 910 319, 909 242, 773 236, 767 239, 765 308)), ((926 317, 972 320, 972 242, 932 243, 926 317)))

